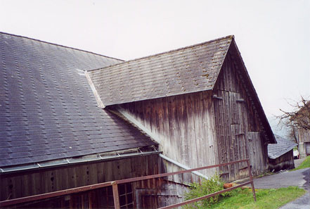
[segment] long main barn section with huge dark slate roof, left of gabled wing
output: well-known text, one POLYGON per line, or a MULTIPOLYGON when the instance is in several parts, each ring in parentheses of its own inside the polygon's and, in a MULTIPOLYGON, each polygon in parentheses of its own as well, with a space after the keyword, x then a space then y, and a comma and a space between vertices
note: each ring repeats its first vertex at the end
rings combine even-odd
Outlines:
MULTIPOLYGON (((159 172, 157 144, 98 108, 84 75, 120 62, 0 33, 0 201, 159 172)), ((147 183, 121 185, 121 204, 138 204, 133 191, 153 185, 147 183)), ((109 186, 17 208, 108 208, 111 191, 109 186)))

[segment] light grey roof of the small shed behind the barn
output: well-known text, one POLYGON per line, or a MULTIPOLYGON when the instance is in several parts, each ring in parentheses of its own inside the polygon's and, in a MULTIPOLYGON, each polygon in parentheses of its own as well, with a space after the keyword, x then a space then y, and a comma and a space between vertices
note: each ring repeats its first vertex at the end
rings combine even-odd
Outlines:
POLYGON ((268 157, 271 159, 276 159, 297 146, 297 144, 290 141, 290 139, 285 139, 276 134, 274 134, 274 136, 276 137, 277 144, 268 144, 268 157))

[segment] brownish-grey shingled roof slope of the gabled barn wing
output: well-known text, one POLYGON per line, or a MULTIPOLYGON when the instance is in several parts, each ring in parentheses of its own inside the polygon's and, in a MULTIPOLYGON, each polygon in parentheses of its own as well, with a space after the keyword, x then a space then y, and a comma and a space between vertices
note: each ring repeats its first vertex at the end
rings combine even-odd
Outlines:
POLYGON ((210 90, 233 36, 139 58, 89 75, 105 106, 210 90))

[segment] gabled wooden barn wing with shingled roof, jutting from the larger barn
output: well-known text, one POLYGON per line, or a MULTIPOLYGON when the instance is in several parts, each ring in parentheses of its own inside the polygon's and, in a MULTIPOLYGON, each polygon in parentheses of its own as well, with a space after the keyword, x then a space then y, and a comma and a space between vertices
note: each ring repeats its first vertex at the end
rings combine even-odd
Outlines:
MULTIPOLYGON (((188 167, 250 158, 255 175, 268 170, 275 139, 233 36, 88 73, 98 105, 150 133, 164 156, 188 167)), ((233 181, 243 168, 219 173, 233 181)))

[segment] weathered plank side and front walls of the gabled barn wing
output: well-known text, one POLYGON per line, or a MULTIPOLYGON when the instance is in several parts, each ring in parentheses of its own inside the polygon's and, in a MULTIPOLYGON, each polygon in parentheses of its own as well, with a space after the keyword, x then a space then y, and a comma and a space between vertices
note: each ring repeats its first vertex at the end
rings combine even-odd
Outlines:
MULTIPOLYGON (((244 70, 234 61, 235 54, 231 51, 228 51, 212 91, 117 106, 160 139, 160 151, 164 155, 183 165, 202 167, 250 158, 252 172, 259 175, 268 168, 266 134, 255 107, 257 103, 247 88, 244 70)), ((168 172, 179 170, 171 163, 166 165, 168 172)), ((221 167, 218 171, 231 182, 247 175, 245 167, 240 163, 221 167)), ((201 172, 212 176, 215 171, 201 172)), ((199 181, 193 175, 174 179, 176 182, 193 180, 199 181)))

